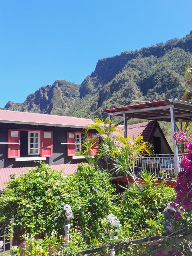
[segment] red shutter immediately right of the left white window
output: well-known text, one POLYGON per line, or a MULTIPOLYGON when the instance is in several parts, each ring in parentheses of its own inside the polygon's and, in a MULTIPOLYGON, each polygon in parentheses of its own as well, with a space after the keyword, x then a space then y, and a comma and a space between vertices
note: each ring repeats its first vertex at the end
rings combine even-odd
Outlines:
POLYGON ((40 156, 41 157, 53 156, 53 132, 52 131, 41 132, 40 156))

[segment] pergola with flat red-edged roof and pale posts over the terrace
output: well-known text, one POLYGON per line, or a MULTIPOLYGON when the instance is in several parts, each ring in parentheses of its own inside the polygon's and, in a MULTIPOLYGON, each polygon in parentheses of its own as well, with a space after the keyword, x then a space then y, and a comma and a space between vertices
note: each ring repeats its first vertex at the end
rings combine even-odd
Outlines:
MULTIPOLYGON (((109 118, 112 116, 122 116, 124 134, 127 135, 127 120, 131 118, 157 120, 171 122, 172 135, 174 132, 182 130, 182 122, 186 122, 185 128, 192 120, 192 103, 177 99, 159 100, 142 104, 129 105, 104 110, 109 118), (179 128, 176 125, 179 123, 179 128)), ((184 151, 182 145, 182 151, 184 151)), ((173 139, 174 166, 175 172, 179 172, 179 158, 177 142, 173 139)))

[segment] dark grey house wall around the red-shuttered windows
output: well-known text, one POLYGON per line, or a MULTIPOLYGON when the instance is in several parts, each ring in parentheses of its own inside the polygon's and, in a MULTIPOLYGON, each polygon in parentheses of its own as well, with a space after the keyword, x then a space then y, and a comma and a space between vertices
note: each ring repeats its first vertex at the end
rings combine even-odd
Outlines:
MULTIPOLYGON (((53 127, 53 126, 38 126, 38 125, 22 125, 22 124, 5 124, 0 123, 0 142, 8 141, 8 129, 34 129, 43 131, 53 131, 53 156, 46 158, 47 164, 61 164, 61 163, 79 163, 83 159, 72 159, 67 156, 67 145, 61 143, 67 142, 67 132, 81 132, 80 128, 66 128, 66 127, 53 127)), ((90 130, 90 132, 95 132, 90 130)), ((23 138, 24 139, 24 138, 23 138)), ((21 141, 23 144, 23 142, 21 141)), ((27 148, 28 138, 26 139, 27 148)), ((35 166, 33 161, 18 161, 14 158, 7 158, 7 144, 0 144, 0 168, 6 167, 25 167, 35 166)))

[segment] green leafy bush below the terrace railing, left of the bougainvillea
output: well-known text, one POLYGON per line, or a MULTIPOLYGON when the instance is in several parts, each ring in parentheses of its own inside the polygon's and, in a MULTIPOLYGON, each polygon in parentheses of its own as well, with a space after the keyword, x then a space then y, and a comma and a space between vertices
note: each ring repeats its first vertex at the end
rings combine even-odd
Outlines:
POLYGON ((118 213, 121 223, 128 225, 132 237, 138 233, 153 232, 162 220, 162 211, 167 203, 175 198, 174 189, 165 186, 164 182, 155 186, 148 183, 143 192, 132 187, 124 193, 125 200, 118 213))

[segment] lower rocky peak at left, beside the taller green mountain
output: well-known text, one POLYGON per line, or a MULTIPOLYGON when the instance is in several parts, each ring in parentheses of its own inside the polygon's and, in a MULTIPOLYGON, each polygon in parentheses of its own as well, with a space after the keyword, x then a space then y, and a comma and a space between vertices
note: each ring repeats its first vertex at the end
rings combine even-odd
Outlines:
POLYGON ((23 103, 9 101, 4 109, 44 113, 52 115, 67 115, 69 109, 79 98, 80 85, 57 80, 53 85, 41 87, 35 93, 29 94, 23 103))

